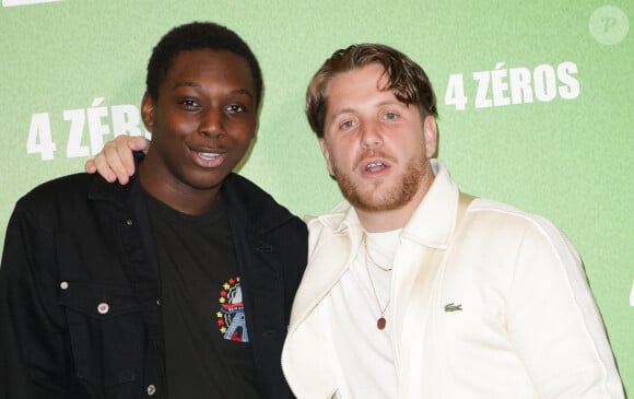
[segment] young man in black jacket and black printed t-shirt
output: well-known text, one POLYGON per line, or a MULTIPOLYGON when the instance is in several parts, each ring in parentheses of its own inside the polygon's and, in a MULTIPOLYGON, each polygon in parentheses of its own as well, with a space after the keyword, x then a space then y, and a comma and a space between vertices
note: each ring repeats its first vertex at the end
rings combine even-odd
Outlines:
POLYGON ((0 267, 0 398, 291 398, 280 354, 305 224, 232 173, 258 62, 190 23, 148 64, 131 184, 78 174, 20 199, 0 267))

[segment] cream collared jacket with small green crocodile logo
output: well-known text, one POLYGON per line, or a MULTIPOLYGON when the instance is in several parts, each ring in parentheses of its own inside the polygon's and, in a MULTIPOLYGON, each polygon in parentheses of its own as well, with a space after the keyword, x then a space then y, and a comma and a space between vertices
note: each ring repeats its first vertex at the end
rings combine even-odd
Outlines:
MULTIPOLYGON (((458 187, 432 162, 436 178, 402 231, 391 277, 398 397, 624 398, 582 261, 564 234, 485 199, 471 202, 457 231, 458 187)), ((308 267, 282 367, 300 399, 332 398, 349 389, 334 375, 320 304, 355 258, 363 230, 348 202, 308 227, 308 267)), ((359 366, 372 364, 360 359, 359 366)))

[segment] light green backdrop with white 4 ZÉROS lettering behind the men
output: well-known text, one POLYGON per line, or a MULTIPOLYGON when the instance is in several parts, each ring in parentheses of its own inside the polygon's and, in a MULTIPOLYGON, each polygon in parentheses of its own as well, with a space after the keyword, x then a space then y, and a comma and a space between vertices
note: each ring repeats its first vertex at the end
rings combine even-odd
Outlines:
POLYGON ((439 157, 461 188, 541 213, 576 244, 632 392, 632 15, 631 0, 2 0, 0 230, 32 187, 82 171, 115 132, 143 133, 151 48, 193 20, 235 30, 261 62, 239 172, 298 215, 326 211, 341 197, 303 115, 306 83, 334 49, 386 43, 428 72, 439 157))

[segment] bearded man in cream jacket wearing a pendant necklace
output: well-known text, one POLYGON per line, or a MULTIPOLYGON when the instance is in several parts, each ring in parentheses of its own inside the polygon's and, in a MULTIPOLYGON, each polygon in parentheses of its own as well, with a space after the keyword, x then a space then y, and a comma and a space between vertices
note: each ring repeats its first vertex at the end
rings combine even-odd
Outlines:
POLYGON ((347 201, 308 221, 282 368, 298 398, 623 398, 582 261, 538 215, 460 193, 425 72, 339 50, 307 115, 347 201))

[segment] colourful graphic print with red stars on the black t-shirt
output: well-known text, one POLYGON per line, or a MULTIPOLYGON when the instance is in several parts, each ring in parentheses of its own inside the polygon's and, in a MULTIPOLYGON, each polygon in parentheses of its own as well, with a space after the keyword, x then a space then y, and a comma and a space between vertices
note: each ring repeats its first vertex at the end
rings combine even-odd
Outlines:
POLYGON ((220 310, 215 317, 223 338, 227 341, 248 342, 249 333, 239 277, 235 279, 232 277, 222 284, 218 302, 220 310))

